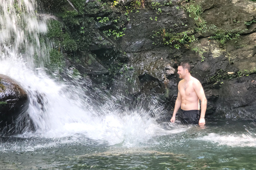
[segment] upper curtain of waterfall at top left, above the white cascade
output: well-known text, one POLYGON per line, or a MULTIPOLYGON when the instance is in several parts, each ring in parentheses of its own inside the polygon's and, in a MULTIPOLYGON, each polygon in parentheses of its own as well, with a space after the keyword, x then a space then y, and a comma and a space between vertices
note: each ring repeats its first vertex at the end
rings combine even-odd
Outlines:
POLYGON ((0 30, 2 60, 18 55, 28 67, 34 67, 34 60, 49 56, 39 40, 47 31, 46 18, 38 19, 34 1, 1 0, 0 30))

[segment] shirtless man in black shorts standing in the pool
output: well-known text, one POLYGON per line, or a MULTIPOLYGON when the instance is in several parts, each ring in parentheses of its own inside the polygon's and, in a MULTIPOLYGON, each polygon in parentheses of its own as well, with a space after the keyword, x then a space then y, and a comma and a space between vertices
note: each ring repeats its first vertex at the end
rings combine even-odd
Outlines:
POLYGON ((188 62, 182 62, 178 66, 178 74, 181 80, 178 84, 178 97, 175 102, 171 122, 174 123, 175 116, 179 110, 182 113, 178 118, 182 123, 205 125, 205 111, 207 100, 204 94, 202 84, 190 74, 191 66, 188 62), (201 114, 199 113, 201 100, 201 114))

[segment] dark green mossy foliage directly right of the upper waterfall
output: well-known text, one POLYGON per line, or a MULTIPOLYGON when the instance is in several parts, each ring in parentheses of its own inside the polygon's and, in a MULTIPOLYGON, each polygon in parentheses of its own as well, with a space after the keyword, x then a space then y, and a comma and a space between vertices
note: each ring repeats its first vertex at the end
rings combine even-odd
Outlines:
MULTIPOLYGON (((61 50, 69 55, 74 55, 76 50, 87 49, 95 37, 94 17, 91 15, 111 10, 110 4, 101 1, 45 0, 42 3, 46 10, 51 10, 61 19, 62 23, 57 26, 62 30, 62 37, 57 37, 57 41, 61 41, 61 50), (63 38, 66 41, 62 41, 63 38)), ((100 23, 103 24, 106 20, 107 18, 102 17, 100 23)), ((59 42, 55 44, 59 45, 59 42)))

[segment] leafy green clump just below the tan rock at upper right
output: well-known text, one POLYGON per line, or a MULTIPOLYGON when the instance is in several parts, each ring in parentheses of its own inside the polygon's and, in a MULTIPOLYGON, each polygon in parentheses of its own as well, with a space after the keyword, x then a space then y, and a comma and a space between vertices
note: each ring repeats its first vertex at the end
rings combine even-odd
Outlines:
POLYGON ((222 45, 225 45, 228 40, 239 40, 239 37, 245 30, 238 31, 234 30, 217 30, 214 36, 211 36, 210 39, 218 40, 222 45))

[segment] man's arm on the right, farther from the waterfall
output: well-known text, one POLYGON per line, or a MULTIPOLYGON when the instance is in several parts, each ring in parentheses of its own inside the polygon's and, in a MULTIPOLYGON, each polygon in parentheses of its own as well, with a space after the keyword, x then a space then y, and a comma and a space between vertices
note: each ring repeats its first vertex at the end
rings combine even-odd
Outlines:
POLYGON ((195 83, 194 89, 196 91, 198 98, 201 100, 201 116, 200 116, 198 124, 203 126, 203 125, 205 125, 204 116, 205 116, 205 112, 206 112, 206 108, 207 108, 207 99, 205 97, 202 84, 198 80, 195 83))

